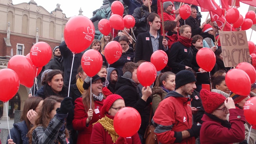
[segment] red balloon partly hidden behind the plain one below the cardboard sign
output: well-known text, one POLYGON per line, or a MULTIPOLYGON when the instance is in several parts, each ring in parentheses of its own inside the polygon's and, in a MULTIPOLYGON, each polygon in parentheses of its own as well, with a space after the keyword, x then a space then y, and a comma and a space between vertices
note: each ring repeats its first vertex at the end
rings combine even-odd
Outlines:
POLYGON ((251 84, 256 81, 256 71, 255 71, 255 68, 251 64, 246 63, 246 62, 239 63, 236 66, 236 68, 239 68, 248 74, 248 76, 250 77, 251 84))

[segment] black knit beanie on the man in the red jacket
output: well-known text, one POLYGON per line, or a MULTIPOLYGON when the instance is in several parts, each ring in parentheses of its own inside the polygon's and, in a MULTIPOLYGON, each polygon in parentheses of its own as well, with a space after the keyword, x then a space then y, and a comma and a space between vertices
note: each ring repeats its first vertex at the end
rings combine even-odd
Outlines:
POLYGON ((189 70, 182 70, 178 72, 175 76, 175 89, 178 89, 182 85, 186 85, 187 83, 197 82, 197 79, 193 72, 189 70))

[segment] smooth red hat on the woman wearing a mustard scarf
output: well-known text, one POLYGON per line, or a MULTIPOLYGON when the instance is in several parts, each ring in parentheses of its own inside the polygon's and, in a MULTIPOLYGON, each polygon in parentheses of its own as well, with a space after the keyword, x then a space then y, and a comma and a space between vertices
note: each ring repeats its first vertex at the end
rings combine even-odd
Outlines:
POLYGON ((108 113, 108 110, 110 109, 111 105, 113 105, 113 103, 118 100, 118 99, 122 99, 124 100, 121 96, 119 96, 118 94, 110 94, 107 96, 106 100, 104 100, 103 102, 103 106, 101 108, 100 113, 102 115, 105 115, 106 113, 108 113))

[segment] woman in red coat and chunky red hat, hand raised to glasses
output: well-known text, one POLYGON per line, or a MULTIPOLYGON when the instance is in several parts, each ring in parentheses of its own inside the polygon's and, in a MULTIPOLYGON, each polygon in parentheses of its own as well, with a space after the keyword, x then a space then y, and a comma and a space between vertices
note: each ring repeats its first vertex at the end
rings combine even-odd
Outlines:
POLYGON ((200 130, 201 144, 232 144, 245 139, 245 116, 236 109, 232 98, 202 89, 200 97, 205 110, 200 130), (227 115, 229 115, 229 122, 227 115))

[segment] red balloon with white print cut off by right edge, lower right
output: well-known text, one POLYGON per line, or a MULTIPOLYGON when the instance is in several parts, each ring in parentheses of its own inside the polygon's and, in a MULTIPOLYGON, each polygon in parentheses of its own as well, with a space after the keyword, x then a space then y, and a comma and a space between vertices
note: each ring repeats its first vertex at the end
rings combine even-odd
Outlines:
POLYGON ((243 114, 250 125, 256 125, 256 97, 249 98, 243 106, 243 114))

